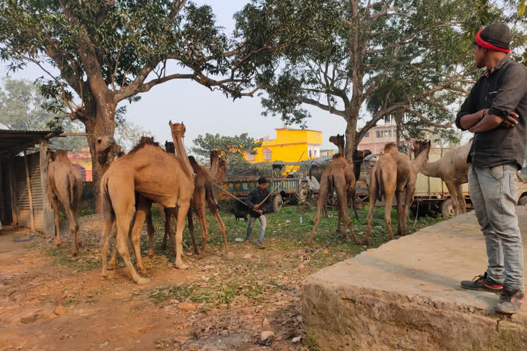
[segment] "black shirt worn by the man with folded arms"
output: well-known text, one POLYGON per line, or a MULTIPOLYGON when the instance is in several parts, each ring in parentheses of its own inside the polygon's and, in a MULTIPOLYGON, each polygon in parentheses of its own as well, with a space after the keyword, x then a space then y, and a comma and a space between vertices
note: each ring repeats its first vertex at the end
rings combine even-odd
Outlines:
POLYGON ((522 169, 526 148, 527 118, 527 69, 523 64, 505 56, 494 71, 487 71, 474 84, 469 96, 456 117, 460 130, 460 119, 489 108, 489 114, 506 119, 511 111, 519 115, 518 124, 507 128, 499 125, 487 132, 474 134, 468 163, 475 167, 493 167, 515 162, 522 169))

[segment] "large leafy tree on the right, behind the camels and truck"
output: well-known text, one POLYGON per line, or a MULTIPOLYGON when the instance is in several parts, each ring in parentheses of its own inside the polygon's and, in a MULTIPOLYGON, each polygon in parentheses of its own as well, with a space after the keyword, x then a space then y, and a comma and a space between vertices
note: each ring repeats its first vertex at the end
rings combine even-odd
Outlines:
MULTIPOLYGON (((319 30, 309 45, 259 67, 264 114, 303 125, 309 117, 303 106, 310 105, 342 117, 348 158, 381 119, 399 115, 432 128, 452 125, 451 108, 475 72, 463 27, 472 2, 298 0, 296 8, 312 3, 319 6, 319 30), (366 122, 360 131, 359 119, 366 122)), ((250 12, 237 16, 245 36, 266 28, 250 12)))

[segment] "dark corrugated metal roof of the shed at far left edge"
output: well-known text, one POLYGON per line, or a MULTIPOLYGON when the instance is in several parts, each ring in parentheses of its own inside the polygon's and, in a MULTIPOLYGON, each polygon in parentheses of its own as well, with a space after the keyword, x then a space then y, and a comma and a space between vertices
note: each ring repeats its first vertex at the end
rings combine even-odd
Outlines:
POLYGON ((19 154, 23 149, 55 136, 49 130, 0 130, 0 157, 19 154))

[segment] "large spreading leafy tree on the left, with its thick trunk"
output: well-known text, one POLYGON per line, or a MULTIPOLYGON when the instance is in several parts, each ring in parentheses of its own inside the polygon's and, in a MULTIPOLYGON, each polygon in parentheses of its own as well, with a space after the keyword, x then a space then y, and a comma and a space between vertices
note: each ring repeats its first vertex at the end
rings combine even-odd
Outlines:
POLYGON ((266 32, 253 43, 229 39, 209 6, 186 0, 2 1, 0 17, 1 58, 13 70, 27 62, 40 66, 46 96, 67 109, 48 107, 85 125, 96 199, 95 138, 113 136, 120 101, 137 101, 139 93, 181 79, 234 98, 252 95, 244 89, 253 65, 279 48, 284 33, 266 32))

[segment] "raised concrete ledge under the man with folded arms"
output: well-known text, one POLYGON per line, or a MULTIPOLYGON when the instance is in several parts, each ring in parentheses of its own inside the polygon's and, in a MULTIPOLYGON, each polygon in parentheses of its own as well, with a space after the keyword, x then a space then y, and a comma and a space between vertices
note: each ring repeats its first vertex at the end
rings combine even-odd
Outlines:
POLYGON ((527 350, 527 306, 495 315, 497 295, 459 287, 486 267, 476 217, 460 215, 307 277, 305 327, 325 351, 527 350))

